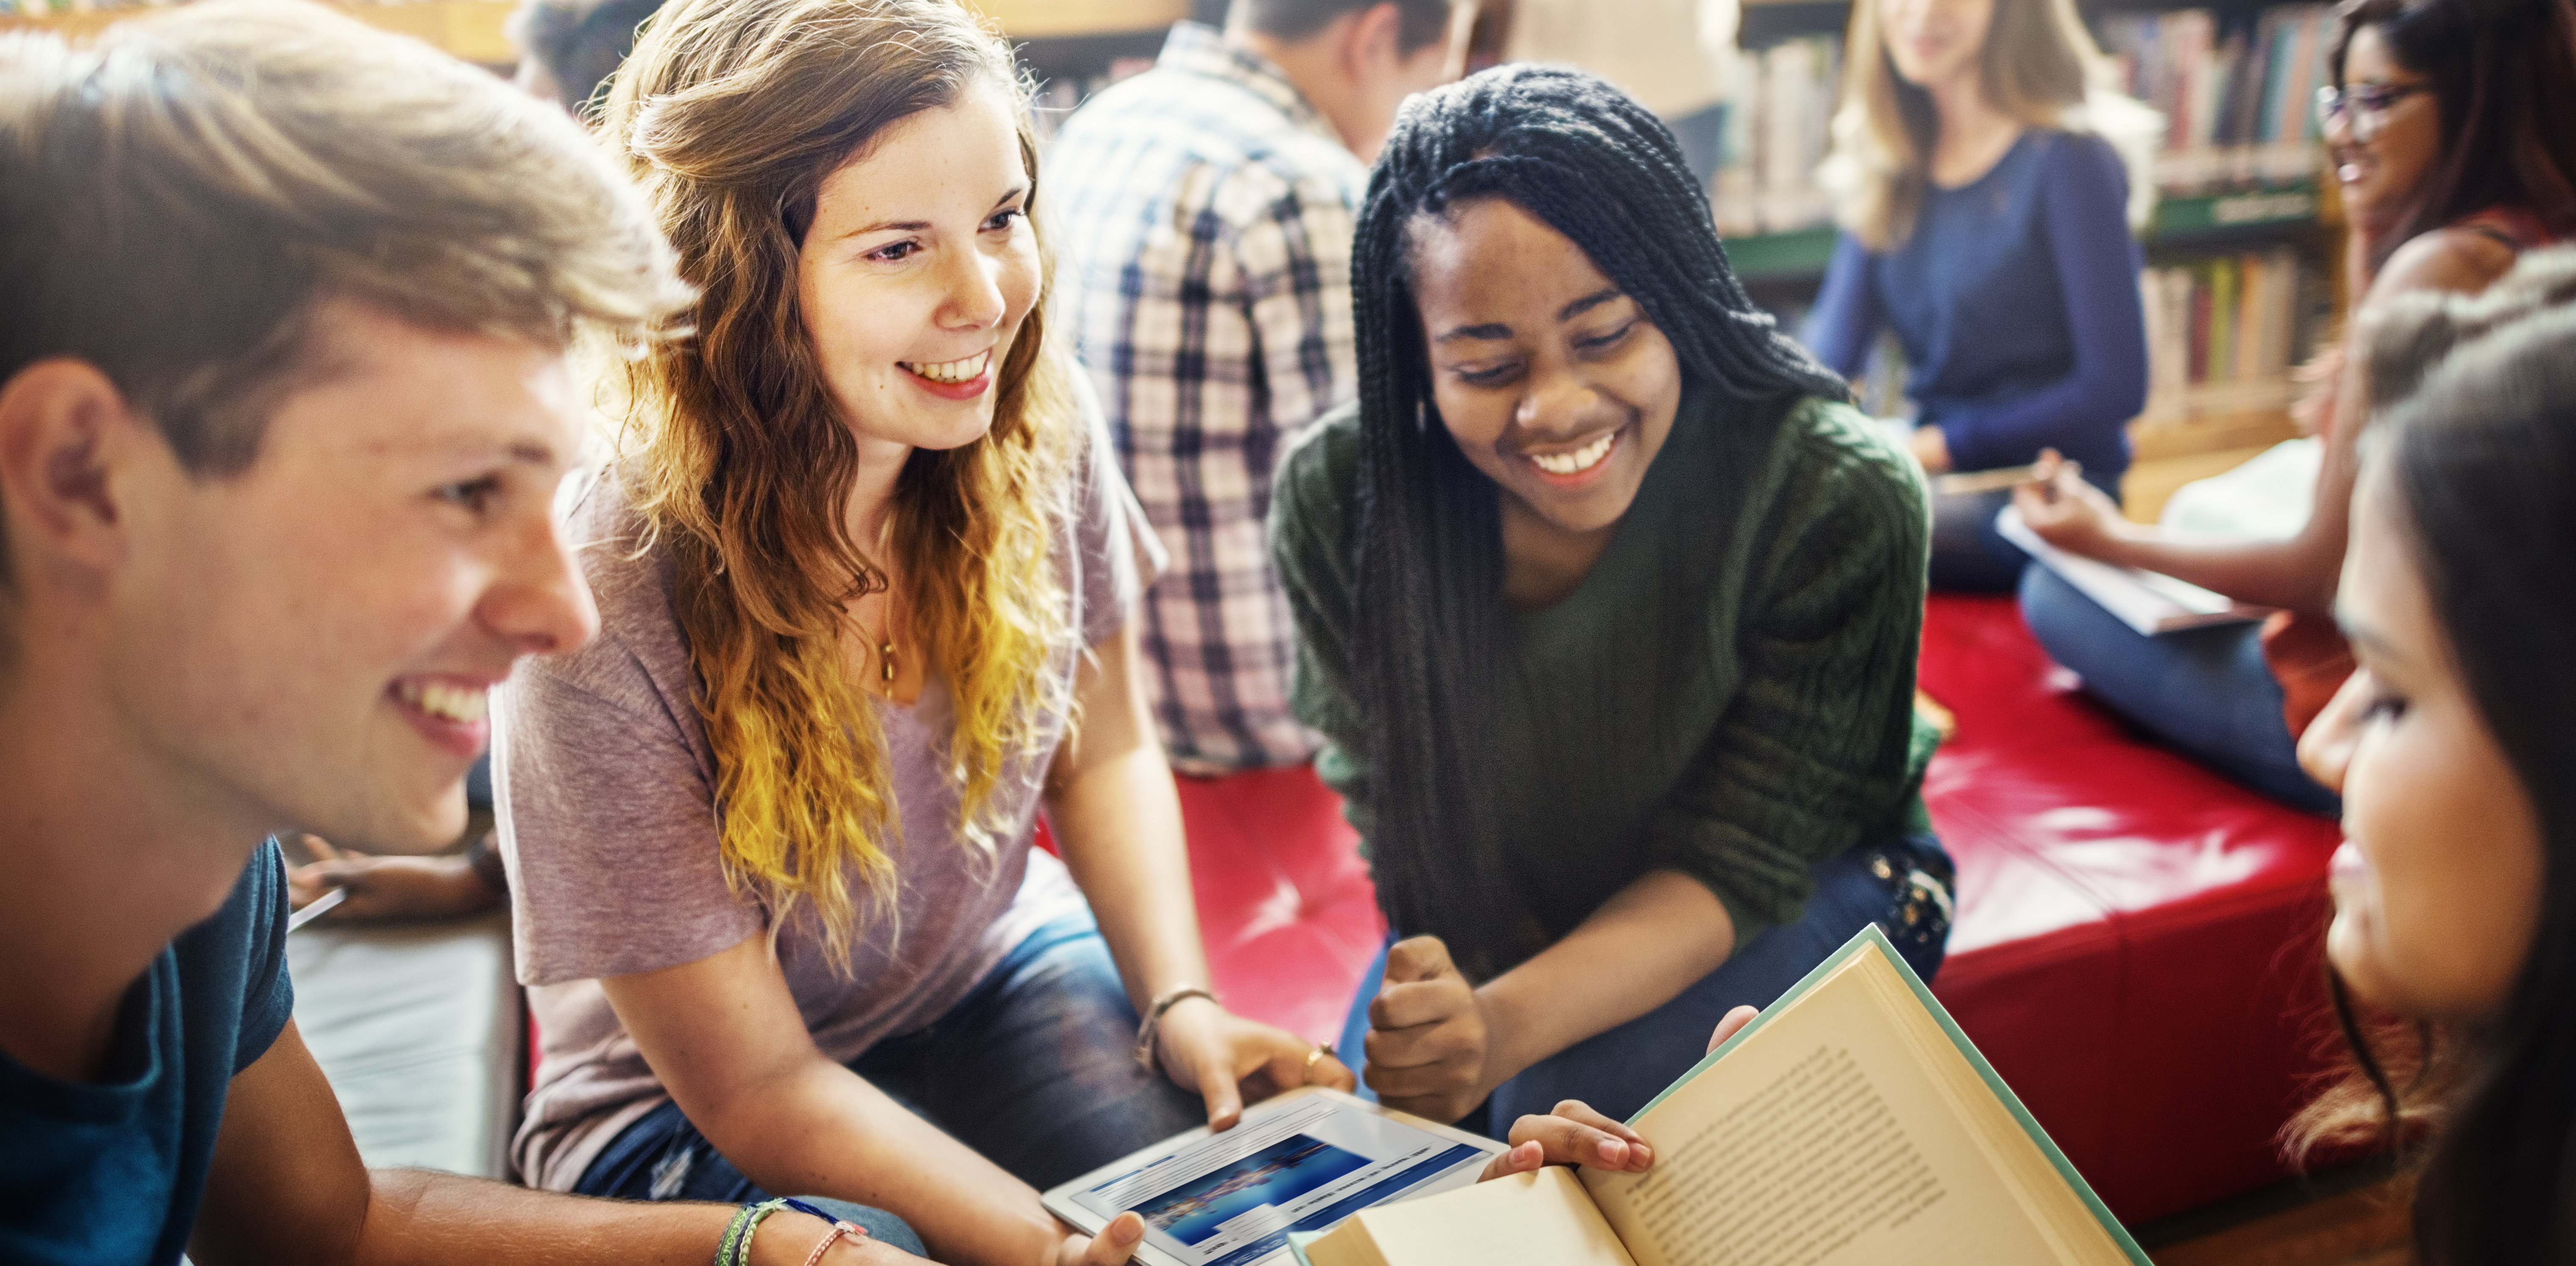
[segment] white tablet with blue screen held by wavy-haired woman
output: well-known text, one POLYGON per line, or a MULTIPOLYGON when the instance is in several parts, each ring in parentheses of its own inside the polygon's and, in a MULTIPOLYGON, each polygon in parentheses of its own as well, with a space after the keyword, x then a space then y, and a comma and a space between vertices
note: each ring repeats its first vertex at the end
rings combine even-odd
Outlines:
POLYGON ((1167 1137, 1046 1194, 1097 1235, 1144 1217, 1141 1266, 1278 1266, 1291 1230, 1329 1230, 1373 1204, 1476 1181, 1502 1142, 1303 1086, 1252 1104, 1224 1135, 1167 1137))

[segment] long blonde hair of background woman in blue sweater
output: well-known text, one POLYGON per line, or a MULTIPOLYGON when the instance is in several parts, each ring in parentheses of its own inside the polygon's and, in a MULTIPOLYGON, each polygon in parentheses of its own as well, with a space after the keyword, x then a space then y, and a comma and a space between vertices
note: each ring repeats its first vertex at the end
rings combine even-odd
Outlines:
MULTIPOLYGON (((1883 3, 1852 3, 1834 149, 1816 170, 1816 183, 1834 196, 1834 221, 1870 250, 1896 250, 1914 234, 1940 139, 1932 95, 1896 75, 1888 59, 1883 3)), ((2128 167, 2130 229, 2146 226, 2156 208, 2164 116, 2112 90, 2112 64, 2074 0, 1994 0, 1976 69, 1986 100, 2022 126, 2110 142, 2128 167)))

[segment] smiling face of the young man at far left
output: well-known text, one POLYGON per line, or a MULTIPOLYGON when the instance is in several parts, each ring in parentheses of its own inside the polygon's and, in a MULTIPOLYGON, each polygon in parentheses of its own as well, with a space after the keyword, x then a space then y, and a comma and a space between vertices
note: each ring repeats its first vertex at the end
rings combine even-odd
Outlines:
POLYGON ((386 852, 464 831, 484 692, 598 615, 551 499, 564 358, 325 301, 247 471, 142 466, 111 579, 113 708, 170 785, 386 852))

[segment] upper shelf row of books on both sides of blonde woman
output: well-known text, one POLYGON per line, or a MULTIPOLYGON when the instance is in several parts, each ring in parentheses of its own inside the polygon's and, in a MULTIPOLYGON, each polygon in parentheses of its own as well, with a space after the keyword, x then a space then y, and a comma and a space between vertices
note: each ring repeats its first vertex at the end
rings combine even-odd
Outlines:
MULTIPOLYGON (((2334 10, 2275 5, 2221 18, 2208 8, 2117 13, 2102 46, 2117 87, 2164 113, 2156 185, 2169 196, 2295 185, 2316 175, 2316 87, 2334 10)), ((1842 39, 1803 36, 1747 51, 1710 180, 1721 234, 1821 226, 1832 203, 1816 165, 1832 144, 1842 39)))

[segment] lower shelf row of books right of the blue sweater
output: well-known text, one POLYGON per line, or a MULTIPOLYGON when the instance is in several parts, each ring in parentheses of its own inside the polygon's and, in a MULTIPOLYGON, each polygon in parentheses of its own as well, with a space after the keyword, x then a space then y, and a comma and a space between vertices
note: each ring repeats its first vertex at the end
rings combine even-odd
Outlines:
POLYGON ((2331 309, 2326 278, 2287 247, 2148 268, 2138 288, 2159 404, 2277 394, 2331 309))

